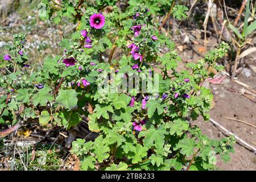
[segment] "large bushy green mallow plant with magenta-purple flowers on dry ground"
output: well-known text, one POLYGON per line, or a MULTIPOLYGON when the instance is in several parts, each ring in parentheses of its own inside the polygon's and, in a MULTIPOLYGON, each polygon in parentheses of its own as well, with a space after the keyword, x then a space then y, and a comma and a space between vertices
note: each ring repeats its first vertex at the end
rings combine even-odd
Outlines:
MULTIPOLYGON (((1 124, 39 122, 69 130, 86 122, 97 137, 76 139, 71 149, 82 170, 212 170, 217 155, 230 159, 234 137, 209 139, 193 125, 200 116, 209 119, 213 95, 202 85, 214 76, 210 69, 222 69, 217 61, 228 44, 177 71, 181 58, 158 30, 155 15, 170 11, 172 3, 166 10, 164 1, 129 1, 130 6, 113 5, 104 13, 100 7, 110 2, 87 3, 84 12, 63 2, 47 1, 47 12, 73 9, 69 15, 78 22, 71 38, 59 43, 62 55, 48 55, 42 67, 31 68, 25 34, 14 35, 14 44, 6 47, 1 124), (154 71, 153 62, 162 72, 154 71)), ((172 7, 175 18, 185 16, 187 7, 172 7)))

